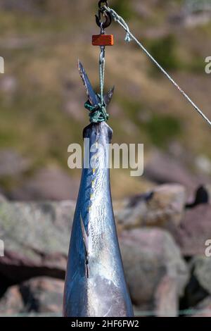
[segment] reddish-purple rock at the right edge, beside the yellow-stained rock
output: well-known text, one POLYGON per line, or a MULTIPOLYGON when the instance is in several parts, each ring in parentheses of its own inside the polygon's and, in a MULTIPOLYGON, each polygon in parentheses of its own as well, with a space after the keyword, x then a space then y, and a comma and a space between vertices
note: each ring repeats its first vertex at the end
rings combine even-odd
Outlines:
POLYGON ((203 204, 188 209, 181 225, 172 235, 184 256, 204 255, 205 242, 211 239, 211 206, 203 204))

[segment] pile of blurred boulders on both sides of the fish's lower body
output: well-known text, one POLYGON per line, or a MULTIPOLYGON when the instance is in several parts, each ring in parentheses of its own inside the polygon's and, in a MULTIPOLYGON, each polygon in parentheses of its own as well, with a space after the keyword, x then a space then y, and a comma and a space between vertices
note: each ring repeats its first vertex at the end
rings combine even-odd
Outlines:
MULTIPOLYGON (((193 204, 186 199, 186 189, 175 184, 114 203, 137 316, 211 316, 208 189, 200 187, 193 204)), ((74 210, 74 201, 1 199, 1 315, 61 316, 74 210)))

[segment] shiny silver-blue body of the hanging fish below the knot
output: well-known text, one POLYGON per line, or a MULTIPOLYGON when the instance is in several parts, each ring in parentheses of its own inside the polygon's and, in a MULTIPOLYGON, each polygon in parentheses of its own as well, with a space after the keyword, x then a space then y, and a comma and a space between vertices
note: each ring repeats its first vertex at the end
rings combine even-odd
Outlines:
POLYGON ((134 316, 124 279, 105 157, 112 136, 113 131, 105 122, 91 123, 84 129, 84 138, 89 138, 90 159, 96 159, 98 166, 82 169, 65 277, 63 316, 134 316))

